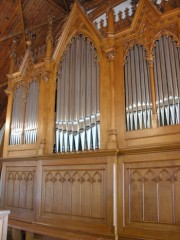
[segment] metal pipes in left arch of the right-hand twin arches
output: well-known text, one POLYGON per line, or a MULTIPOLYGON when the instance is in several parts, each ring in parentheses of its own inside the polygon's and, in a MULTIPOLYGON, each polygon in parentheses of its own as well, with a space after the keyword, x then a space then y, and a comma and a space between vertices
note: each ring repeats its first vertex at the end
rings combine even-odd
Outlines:
POLYGON ((128 52, 124 65, 126 129, 150 128, 152 103, 149 68, 143 46, 135 45, 128 52))

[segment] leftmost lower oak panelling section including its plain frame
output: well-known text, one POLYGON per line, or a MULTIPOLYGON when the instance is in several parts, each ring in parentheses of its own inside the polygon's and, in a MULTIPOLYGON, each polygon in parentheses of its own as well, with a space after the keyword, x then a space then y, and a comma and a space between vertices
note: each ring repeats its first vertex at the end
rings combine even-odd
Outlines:
POLYGON ((33 220, 35 217, 36 163, 3 164, 2 198, 4 209, 11 217, 33 220), (12 166, 11 166, 12 165, 12 166), (13 166, 15 165, 15 166, 13 166))

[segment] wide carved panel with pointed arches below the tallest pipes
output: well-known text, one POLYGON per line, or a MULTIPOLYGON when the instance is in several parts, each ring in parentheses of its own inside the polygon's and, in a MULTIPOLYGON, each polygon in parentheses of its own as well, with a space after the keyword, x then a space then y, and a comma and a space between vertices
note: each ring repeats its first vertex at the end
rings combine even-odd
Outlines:
POLYGON ((56 216, 106 218, 106 167, 44 167, 42 212, 56 216))

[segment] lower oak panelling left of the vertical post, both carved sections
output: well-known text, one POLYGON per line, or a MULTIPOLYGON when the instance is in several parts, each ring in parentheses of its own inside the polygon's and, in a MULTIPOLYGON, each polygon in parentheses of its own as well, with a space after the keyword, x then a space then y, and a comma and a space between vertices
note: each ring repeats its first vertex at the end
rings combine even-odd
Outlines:
MULTIPOLYGON (((10 223, 15 223, 14 227, 21 222, 23 228, 27 222, 47 226, 50 232, 58 228, 81 232, 86 237, 95 234, 111 238, 113 159, 81 157, 4 162, 1 206, 11 211, 10 223)), ((34 232, 38 233, 37 229, 34 232)))

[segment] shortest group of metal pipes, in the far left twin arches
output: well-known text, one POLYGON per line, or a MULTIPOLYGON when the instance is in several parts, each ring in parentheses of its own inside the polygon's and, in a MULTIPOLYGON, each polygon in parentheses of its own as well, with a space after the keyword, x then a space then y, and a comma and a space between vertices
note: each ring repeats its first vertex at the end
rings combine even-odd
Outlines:
POLYGON ((33 80, 27 95, 25 91, 24 86, 18 86, 14 92, 10 145, 33 144, 37 141, 38 82, 33 80))

